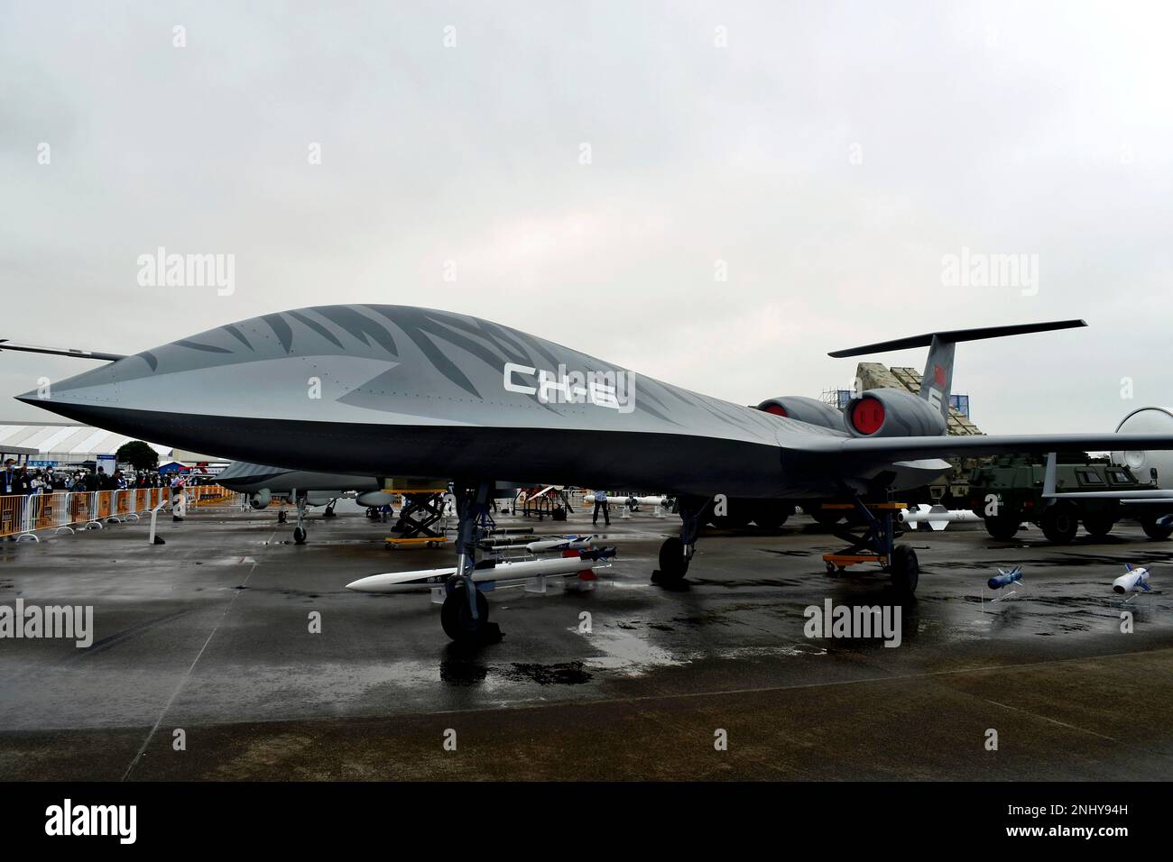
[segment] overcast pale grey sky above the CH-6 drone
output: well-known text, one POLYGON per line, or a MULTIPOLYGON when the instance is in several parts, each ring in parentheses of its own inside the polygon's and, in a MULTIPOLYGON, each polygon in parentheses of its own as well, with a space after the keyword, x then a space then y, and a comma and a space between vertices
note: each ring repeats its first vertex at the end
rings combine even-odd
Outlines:
MULTIPOLYGON (((1168 4, 2 0, 0 21, 0 337, 131 353, 426 305, 757 403, 848 386, 829 349, 1083 317, 958 347, 984 430, 1173 402, 1168 4), (141 286, 158 246, 235 254, 235 292, 141 286), (1037 279, 950 283, 990 254, 1037 279)), ((8 396, 84 367, 0 354, 0 421, 53 421, 8 396)))

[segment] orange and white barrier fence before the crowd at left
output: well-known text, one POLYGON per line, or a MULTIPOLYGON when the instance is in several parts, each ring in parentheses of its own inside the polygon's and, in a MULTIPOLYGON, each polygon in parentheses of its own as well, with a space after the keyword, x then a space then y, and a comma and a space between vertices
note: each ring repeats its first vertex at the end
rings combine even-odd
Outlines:
MULTIPOLYGON (((211 505, 231 501, 237 495, 218 484, 185 487, 187 505, 211 505)), ((79 524, 101 525, 109 520, 137 520, 155 507, 170 503, 170 488, 124 488, 109 491, 59 491, 0 496, 0 538, 38 530, 73 531, 79 524)))

